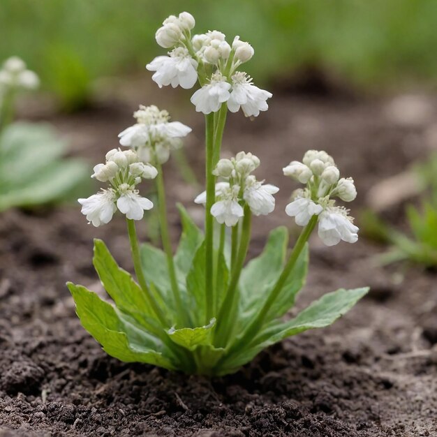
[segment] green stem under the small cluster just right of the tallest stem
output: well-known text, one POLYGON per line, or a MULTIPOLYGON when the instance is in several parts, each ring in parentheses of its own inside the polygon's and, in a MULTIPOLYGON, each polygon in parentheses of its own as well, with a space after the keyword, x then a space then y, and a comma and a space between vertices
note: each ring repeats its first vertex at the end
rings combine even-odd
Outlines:
POLYGON ((237 308, 237 285, 239 276, 242 272, 244 260, 246 259, 247 251, 249 249, 249 242, 251 241, 251 218, 252 213, 248 205, 244 207, 244 219, 242 226, 242 236, 239 244, 237 259, 235 260, 235 269, 232 273, 228 290, 225 298, 221 304, 218 312, 217 325, 215 329, 215 339, 218 346, 225 346, 230 334, 230 329, 234 327, 233 313, 237 308))

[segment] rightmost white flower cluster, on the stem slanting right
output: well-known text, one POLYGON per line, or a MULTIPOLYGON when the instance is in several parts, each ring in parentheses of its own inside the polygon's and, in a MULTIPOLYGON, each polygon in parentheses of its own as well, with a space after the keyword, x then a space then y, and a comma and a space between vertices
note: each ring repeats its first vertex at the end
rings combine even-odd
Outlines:
POLYGON ((302 160, 292 161, 283 173, 306 184, 295 192, 294 200, 287 205, 286 214, 295 217, 299 226, 309 223, 312 216, 318 216, 318 235, 327 246, 334 246, 341 240, 355 243, 358 228, 348 209, 335 205, 339 198, 351 202, 357 197, 353 179, 340 178, 339 169, 332 156, 325 151, 309 150, 302 160))

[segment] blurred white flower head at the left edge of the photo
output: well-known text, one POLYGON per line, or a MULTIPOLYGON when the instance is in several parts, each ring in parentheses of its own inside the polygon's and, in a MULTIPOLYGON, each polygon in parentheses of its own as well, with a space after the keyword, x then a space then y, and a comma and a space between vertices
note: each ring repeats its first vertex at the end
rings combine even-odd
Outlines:
POLYGON ((19 57, 6 59, 0 70, 0 95, 8 89, 36 89, 39 79, 34 71, 28 70, 19 57))

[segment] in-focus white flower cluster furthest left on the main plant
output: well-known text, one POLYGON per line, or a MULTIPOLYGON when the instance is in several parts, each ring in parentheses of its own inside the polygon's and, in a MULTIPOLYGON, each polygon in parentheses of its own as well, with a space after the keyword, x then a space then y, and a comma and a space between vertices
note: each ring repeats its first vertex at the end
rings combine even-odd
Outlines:
POLYGON ((127 218, 141 220, 145 210, 154 205, 138 194, 136 186, 142 179, 154 179, 158 175, 156 168, 143 163, 133 150, 112 149, 105 158, 105 164, 96 165, 91 177, 109 182, 110 188, 87 199, 78 199, 82 214, 94 226, 109 223, 117 208, 127 218))

